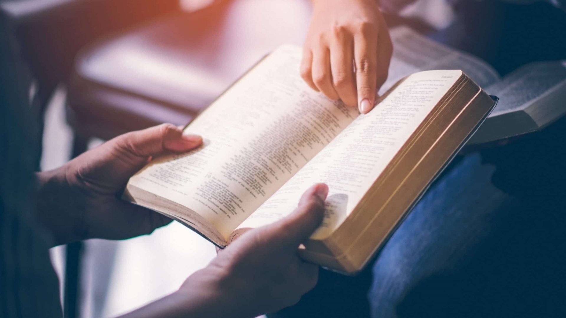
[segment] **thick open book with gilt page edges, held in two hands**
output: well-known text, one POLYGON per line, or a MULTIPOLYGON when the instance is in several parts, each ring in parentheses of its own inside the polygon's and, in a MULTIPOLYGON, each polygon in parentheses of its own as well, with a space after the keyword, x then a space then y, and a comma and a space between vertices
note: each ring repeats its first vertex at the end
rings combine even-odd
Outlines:
POLYGON ((203 147, 156 158, 124 197, 224 247, 324 182, 325 220, 299 252, 361 269, 495 103, 460 70, 423 71, 360 115, 308 88, 300 61, 295 46, 265 57, 185 128, 203 147))

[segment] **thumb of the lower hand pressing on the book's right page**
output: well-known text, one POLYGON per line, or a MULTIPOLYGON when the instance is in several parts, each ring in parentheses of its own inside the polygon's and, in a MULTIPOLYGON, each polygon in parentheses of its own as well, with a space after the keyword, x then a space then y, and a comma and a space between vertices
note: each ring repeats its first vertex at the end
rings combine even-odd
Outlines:
POLYGON ((271 225, 268 233, 280 244, 297 248, 320 226, 324 218, 324 200, 328 195, 328 186, 316 183, 299 200, 299 207, 288 217, 271 225))

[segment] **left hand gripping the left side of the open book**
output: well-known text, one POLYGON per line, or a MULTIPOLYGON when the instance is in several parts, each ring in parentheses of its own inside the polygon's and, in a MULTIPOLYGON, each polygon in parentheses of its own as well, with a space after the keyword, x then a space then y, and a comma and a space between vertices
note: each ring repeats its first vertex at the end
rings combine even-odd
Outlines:
POLYGON ((125 239, 149 234, 171 220, 119 199, 128 179, 166 152, 202 143, 172 124, 118 136, 59 169, 38 173, 38 217, 55 243, 87 238, 125 239))

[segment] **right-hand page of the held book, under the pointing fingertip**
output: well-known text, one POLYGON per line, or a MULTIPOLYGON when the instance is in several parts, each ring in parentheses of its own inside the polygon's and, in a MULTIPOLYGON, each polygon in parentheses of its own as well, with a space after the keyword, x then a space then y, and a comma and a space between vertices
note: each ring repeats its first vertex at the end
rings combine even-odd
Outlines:
POLYGON ((370 113, 355 119, 239 228, 259 227, 285 217, 308 187, 324 182, 329 186, 325 220, 311 238, 327 237, 461 74, 448 70, 409 76, 370 113))

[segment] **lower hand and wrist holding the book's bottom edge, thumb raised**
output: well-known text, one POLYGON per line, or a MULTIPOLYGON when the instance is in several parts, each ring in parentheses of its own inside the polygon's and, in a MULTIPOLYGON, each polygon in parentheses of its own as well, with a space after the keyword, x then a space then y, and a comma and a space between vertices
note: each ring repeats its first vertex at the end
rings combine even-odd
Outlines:
POLYGON ((316 285, 319 269, 297 250, 323 220, 327 195, 325 184, 315 184, 293 214, 247 231, 178 291, 122 318, 251 318, 297 303, 316 285))

